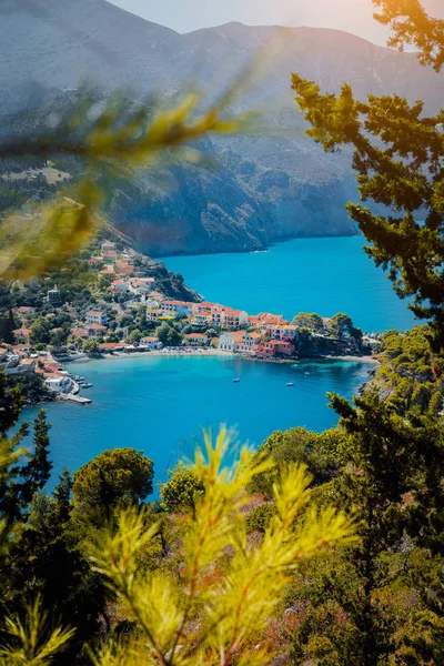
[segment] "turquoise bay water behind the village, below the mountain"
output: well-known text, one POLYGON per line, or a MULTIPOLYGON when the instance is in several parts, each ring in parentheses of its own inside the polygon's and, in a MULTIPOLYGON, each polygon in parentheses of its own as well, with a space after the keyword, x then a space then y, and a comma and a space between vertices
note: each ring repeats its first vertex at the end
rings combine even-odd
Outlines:
POLYGON ((413 314, 382 269, 364 253, 362 236, 296 239, 269 252, 172 256, 162 261, 206 300, 251 314, 350 314, 364 331, 410 329, 413 314))

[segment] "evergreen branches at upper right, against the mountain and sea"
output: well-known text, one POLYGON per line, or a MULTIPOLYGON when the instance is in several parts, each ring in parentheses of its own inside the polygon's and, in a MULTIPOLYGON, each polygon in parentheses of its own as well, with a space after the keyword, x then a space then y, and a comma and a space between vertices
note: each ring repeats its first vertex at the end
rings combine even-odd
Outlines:
MULTIPOLYGON (((397 30, 396 43, 413 38, 423 59, 441 67, 443 21, 428 21, 417 0, 410 7, 398 0, 377 4, 384 20, 397 30), (400 16, 407 18, 400 22, 400 16), (430 44, 436 47, 435 56, 430 44)), ((398 95, 369 95, 364 103, 349 84, 339 95, 322 94, 316 83, 297 73, 292 75, 292 88, 311 125, 310 137, 326 151, 353 148, 361 200, 393 211, 383 215, 360 204, 347 206, 371 243, 366 252, 389 271, 401 297, 414 296, 412 310, 431 320, 435 344, 444 344, 443 112, 427 117, 421 101, 410 104, 398 95)))

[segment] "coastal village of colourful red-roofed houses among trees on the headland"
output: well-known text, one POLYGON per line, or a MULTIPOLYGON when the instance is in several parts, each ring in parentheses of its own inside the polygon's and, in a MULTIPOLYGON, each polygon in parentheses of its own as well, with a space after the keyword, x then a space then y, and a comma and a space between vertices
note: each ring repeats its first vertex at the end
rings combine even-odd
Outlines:
POLYGON ((363 337, 346 315, 300 314, 290 322, 281 314, 250 314, 196 294, 194 301, 171 299, 164 280, 149 275, 141 256, 103 240, 82 258, 93 307, 75 310, 53 284, 42 295, 43 309, 20 305, 4 312, 0 369, 6 375, 37 375, 48 394, 73 396, 82 384, 64 363, 85 356, 219 353, 280 360, 310 355, 310 350, 313 355, 362 354, 365 345, 369 351, 377 344, 363 337))

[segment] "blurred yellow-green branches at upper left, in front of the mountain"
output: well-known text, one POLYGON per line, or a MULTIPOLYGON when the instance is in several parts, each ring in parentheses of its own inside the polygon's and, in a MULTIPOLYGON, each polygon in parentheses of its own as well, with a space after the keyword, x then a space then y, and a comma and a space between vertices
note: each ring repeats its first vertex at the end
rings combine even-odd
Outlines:
POLYGON ((195 160, 196 152, 186 147, 206 132, 240 131, 243 121, 226 113, 230 99, 230 94, 223 95, 202 112, 198 110, 200 100, 192 94, 170 109, 162 109, 154 99, 134 104, 122 94, 114 94, 98 113, 97 99, 87 91, 51 130, 47 124, 32 134, 3 139, 3 159, 72 155, 80 158, 85 169, 82 178, 61 189, 53 201, 33 202, 26 214, 4 215, 0 228, 0 274, 29 279, 62 265, 74 251, 90 243, 103 225, 105 184, 131 178, 135 169, 152 165, 167 150, 181 150, 195 160), (36 248, 44 251, 37 253, 36 248))

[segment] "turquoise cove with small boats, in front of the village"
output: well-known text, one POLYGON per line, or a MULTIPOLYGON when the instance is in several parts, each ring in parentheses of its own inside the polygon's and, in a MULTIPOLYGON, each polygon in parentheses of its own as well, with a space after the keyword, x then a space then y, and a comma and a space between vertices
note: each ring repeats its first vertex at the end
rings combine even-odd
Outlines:
MULTIPOLYGON (((369 364, 353 361, 260 363, 235 357, 128 357, 70 364, 92 382, 93 404, 49 403, 53 487, 105 448, 134 447, 154 461, 155 480, 181 457, 193 457, 201 428, 236 427, 236 440, 258 446, 274 430, 336 423, 326 392, 351 397, 369 364), (233 383, 240 377, 240 383, 233 383), (287 387, 286 382, 294 382, 287 387)), ((87 392, 85 392, 87 395, 87 392)), ((39 407, 26 410, 21 422, 39 407)), ((28 442, 30 444, 31 442, 28 442)), ((233 444, 234 451, 234 444, 233 444)))

